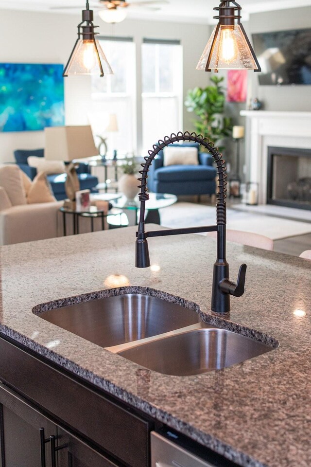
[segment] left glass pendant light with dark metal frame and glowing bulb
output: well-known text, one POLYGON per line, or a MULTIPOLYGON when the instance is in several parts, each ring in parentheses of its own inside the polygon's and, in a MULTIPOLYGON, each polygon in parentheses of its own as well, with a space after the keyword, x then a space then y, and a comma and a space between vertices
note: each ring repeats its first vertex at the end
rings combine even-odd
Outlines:
POLYGON ((100 75, 112 74, 113 71, 105 57, 98 40, 95 40, 93 24, 93 11, 89 9, 86 0, 86 9, 82 11, 82 22, 78 24, 78 38, 63 76, 69 75, 100 75))

